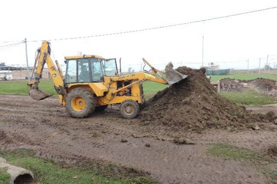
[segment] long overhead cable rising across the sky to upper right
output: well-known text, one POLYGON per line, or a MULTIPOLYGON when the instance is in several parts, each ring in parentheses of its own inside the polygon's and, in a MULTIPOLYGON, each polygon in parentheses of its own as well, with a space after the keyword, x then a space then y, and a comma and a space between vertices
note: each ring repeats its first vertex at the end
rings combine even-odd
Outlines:
MULTIPOLYGON (((270 10, 270 9, 275 9, 275 8, 277 8, 277 6, 270 7, 270 8, 265 8, 265 9, 260 9, 260 10, 253 10, 253 11, 249 11, 249 12, 236 13, 236 14, 231 14, 231 15, 226 15, 226 16, 221 16, 221 17, 214 17, 214 18, 208 18, 208 19, 203 19, 203 20, 197 20, 197 21, 191 21, 191 22, 186 22, 186 23, 180 23, 180 24, 165 25, 165 26, 146 28, 146 29, 138 29, 138 30, 132 30, 132 31, 124 31, 124 32, 118 32, 118 33, 107 33, 107 34, 92 35, 92 36, 81 36, 81 37, 71 37, 71 38, 50 39, 48 41, 73 40, 73 39, 90 38, 90 37, 98 37, 98 36, 117 35, 117 34, 124 34, 124 33, 134 33, 134 32, 147 31, 147 30, 152 30, 152 29, 161 29, 161 28, 173 27, 173 26, 178 26, 178 25, 192 24, 192 23, 203 22, 203 21, 211 21, 211 20, 215 20, 215 19, 233 17, 233 16, 238 16, 238 15, 243 15, 243 14, 248 14, 248 13, 255 13, 255 12, 260 12, 260 11, 265 11, 265 10, 270 10)), ((38 41, 44 41, 44 40, 30 40, 28 42, 38 42, 38 41)))

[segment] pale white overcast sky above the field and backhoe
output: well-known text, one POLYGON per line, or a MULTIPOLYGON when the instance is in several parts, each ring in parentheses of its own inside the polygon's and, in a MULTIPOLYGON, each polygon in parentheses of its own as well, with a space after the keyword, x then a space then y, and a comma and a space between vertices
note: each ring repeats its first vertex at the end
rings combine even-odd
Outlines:
MULTIPOLYGON (((163 25, 185 23, 277 6, 276 0, 195 0, 195 1, 1 1, 0 45, 4 41, 50 40, 116 33, 163 25)), ((142 57, 159 69, 169 61, 199 68, 210 62, 221 68, 273 65, 277 58, 277 9, 154 29, 135 33, 51 41, 55 59, 83 54, 122 58, 122 68, 140 70, 142 57), (276 56, 274 56, 276 55, 276 56), (233 62, 228 62, 233 61, 233 62), (195 63, 195 64, 191 64, 195 63)), ((28 42, 30 65, 41 42, 28 42)), ((0 62, 26 64, 25 45, 0 48, 0 62)))

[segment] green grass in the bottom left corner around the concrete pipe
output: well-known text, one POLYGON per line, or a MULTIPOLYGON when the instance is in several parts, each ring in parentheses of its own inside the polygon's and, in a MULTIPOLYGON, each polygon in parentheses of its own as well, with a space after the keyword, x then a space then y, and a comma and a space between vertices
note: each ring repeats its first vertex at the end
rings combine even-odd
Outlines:
MULTIPOLYGON (((56 163, 35 157, 28 149, 18 148, 14 151, 0 150, 0 156, 8 163, 33 171, 35 179, 40 184, 88 184, 88 183, 115 183, 115 184, 154 184, 157 183, 150 177, 115 178, 101 176, 94 171, 78 167, 61 167, 56 163)), ((6 175, 1 175, 5 179, 6 175)), ((3 180, 4 180, 3 179, 3 180)), ((1 180, 0 180, 1 181, 1 180)), ((4 184, 4 183, 3 183, 4 184)))

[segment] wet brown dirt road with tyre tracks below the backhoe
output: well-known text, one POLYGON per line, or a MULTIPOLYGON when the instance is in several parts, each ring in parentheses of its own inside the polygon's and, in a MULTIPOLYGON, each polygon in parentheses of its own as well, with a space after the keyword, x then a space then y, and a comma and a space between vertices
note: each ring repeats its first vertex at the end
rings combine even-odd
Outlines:
POLYGON ((145 132, 145 126, 138 119, 122 119, 116 109, 74 119, 56 98, 34 101, 28 96, 0 95, 1 148, 33 148, 51 159, 79 157, 120 163, 148 171, 160 183, 268 182, 251 165, 208 156, 205 148, 210 142, 226 142, 266 152, 269 145, 277 144, 274 126, 260 131, 183 132, 195 145, 174 144, 174 132, 163 135, 160 127, 145 132), (128 141, 122 143, 122 138, 128 141))

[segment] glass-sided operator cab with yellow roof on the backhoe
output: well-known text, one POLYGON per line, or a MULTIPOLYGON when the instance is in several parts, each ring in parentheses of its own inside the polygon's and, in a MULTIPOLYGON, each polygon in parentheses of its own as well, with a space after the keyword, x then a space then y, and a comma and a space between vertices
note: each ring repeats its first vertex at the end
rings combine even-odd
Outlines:
POLYGON ((65 83, 103 82, 104 76, 118 75, 116 59, 101 56, 66 56, 65 83))

